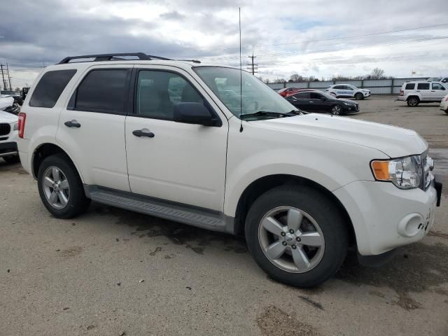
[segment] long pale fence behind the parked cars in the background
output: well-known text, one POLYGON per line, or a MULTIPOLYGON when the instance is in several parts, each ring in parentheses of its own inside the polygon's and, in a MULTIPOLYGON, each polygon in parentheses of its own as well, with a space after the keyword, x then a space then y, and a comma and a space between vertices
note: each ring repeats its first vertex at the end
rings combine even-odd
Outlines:
POLYGON ((409 80, 426 80, 426 78, 393 78, 393 79, 363 79, 363 80, 325 80, 319 82, 286 82, 269 83, 273 90, 280 90, 284 87, 297 87, 299 89, 325 90, 334 84, 351 84, 362 89, 367 89, 372 94, 398 94, 403 83, 409 80))

